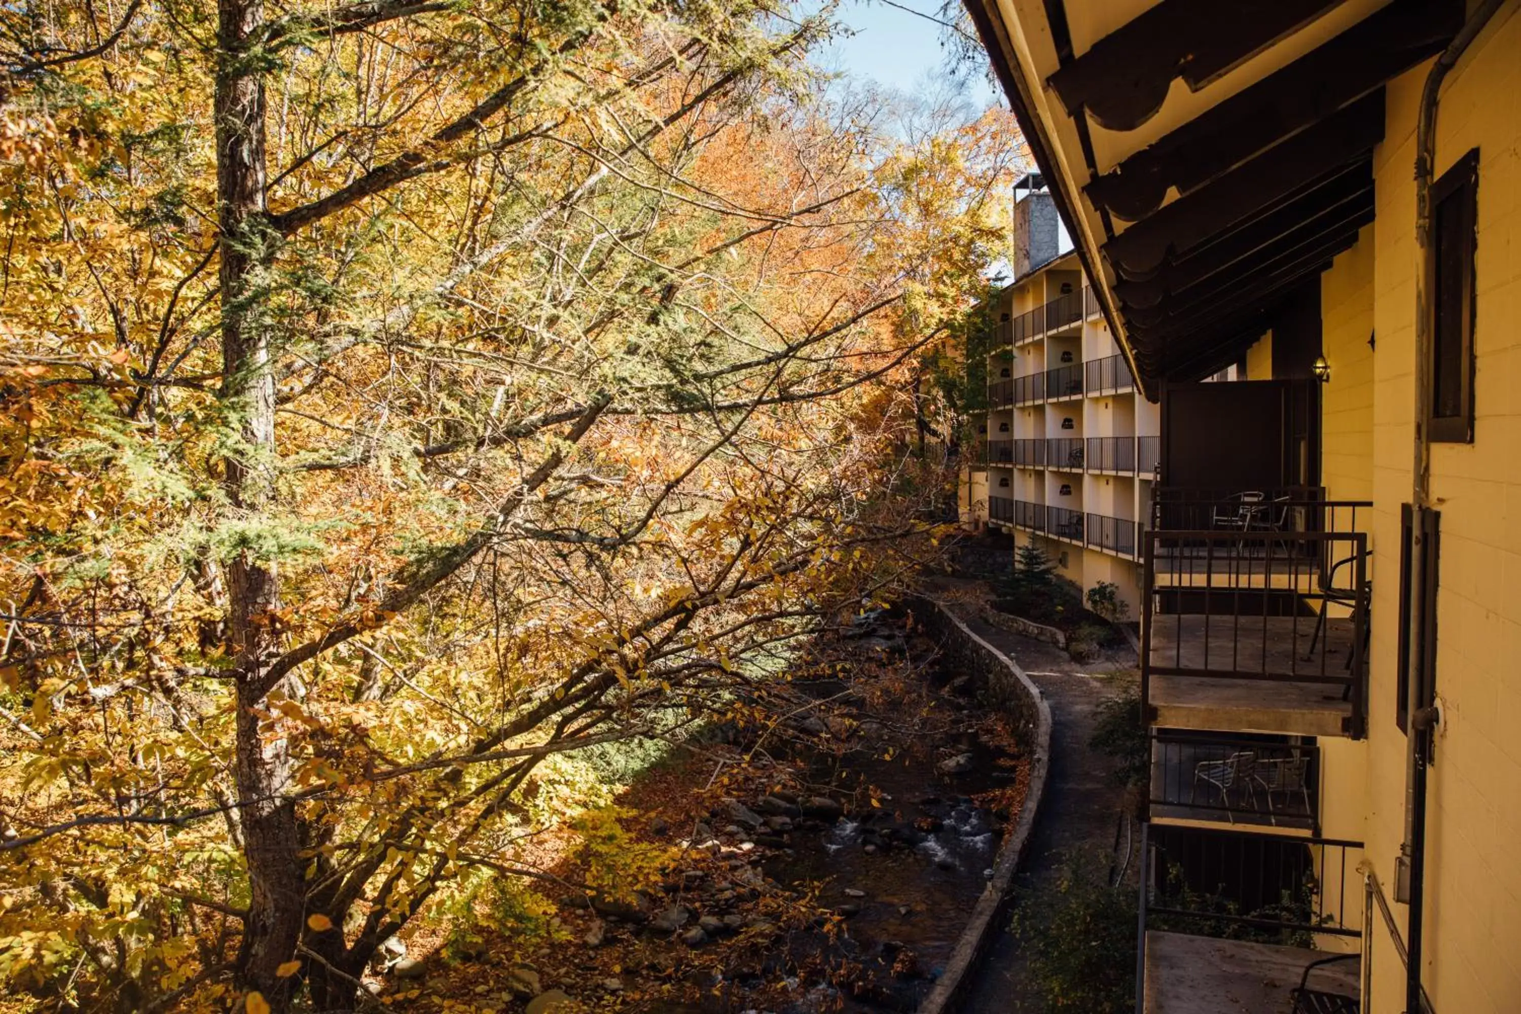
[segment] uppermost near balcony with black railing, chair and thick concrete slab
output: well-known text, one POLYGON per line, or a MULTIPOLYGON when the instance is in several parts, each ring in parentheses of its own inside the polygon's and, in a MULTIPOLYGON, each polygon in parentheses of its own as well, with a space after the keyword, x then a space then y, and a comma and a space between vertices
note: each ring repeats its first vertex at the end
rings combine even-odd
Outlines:
POLYGON ((1369 506, 1303 486, 1157 490, 1142 547, 1148 721, 1360 737, 1369 506))

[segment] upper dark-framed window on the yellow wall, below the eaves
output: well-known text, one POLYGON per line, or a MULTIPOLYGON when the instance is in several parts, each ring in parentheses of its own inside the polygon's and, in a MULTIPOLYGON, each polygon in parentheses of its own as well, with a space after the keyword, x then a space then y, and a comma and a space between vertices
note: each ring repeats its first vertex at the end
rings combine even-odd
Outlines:
POLYGON ((1474 251, 1478 246, 1478 149, 1431 187, 1431 439, 1474 439, 1474 251))

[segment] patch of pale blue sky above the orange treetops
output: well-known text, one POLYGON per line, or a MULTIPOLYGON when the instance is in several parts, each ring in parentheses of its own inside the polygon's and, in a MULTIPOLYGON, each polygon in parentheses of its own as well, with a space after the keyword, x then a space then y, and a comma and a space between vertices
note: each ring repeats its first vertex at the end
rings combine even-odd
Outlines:
MULTIPOLYGON (((928 15, 940 8, 938 0, 897 2, 928 15)), ((855 35, 837 40, 820 56, 826 65, 837 64, 852 78, 914 93, 943 65, 941 27, 932 21, 876 0, 846 0, 840 20, 855 29, 855 35)), ((969 84, 967 100, 983 109, 995 97, 987 82, 976 78, 969 84)))

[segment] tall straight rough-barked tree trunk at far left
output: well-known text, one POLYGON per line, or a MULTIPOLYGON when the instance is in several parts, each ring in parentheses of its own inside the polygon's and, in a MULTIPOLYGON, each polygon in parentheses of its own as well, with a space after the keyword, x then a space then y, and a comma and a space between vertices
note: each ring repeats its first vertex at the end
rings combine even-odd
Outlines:
MULTIPOLYGON (((275 236, 265 207, 265 61, 259 52, 262 0, 219 0, 216 182, 221 222, 222 398, 237 439, 224 459, 233 509, 257 523, 274 502, 275 382, 269 362, 269 272, 275 236)), ((278 976, 295 958, 304 917, 301 841, 289 801, 291 753, 278 730, 262 730, 271 687, 265 669, 278 651, 280 602, 272 562, 246 550, 227 566, 228 639, 236 660, 234 771, 248 863, 249 905, 237 971, 275 1011, 289 1009, 297 979, 278 976)))

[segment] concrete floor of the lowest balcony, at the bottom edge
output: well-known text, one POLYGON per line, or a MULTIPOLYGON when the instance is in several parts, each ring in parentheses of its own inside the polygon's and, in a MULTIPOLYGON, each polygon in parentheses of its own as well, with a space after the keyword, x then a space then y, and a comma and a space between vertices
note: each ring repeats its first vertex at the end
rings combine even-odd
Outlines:
MULTIPOLYGON (((1355 941, 1349 941, 1355 943, 1355 941)), ((1144 1014, 1287 1014, 1305 965, 1332 952, 1148 930, 1144 1014)), ((1357 996, 1358 961, 1317 968, 1310 985, 1357 996)))

